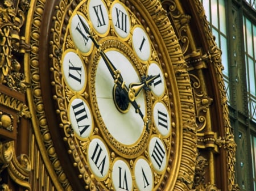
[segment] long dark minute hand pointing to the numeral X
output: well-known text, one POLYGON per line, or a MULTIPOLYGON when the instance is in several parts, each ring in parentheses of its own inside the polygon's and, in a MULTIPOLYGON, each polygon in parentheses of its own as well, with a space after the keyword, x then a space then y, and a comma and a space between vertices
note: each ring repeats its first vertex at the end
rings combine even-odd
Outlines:
MULTIPOLYGON (((92 42, 96 46, 96 48, 100 50, 101 57, 104 60, 104 62, 106 63, 106 66, 108 67, 108 70, 109 70, 110 74, 112 75, 112 78, 114 79, 114 82, 116 84, 118 84, 119 86, 120 85, 122 86, 123 78, 122 78, 120 72, 115 68, 115 66, 109 60, 109 58, 106 56, 104 51, 102 49, 100 49, 100 44, 98 44, 98 42, 94 39, 94 37, 92 36, 92 33, 90 33, 89 28, 86 26, 84 21, 81 19, 81 16, 79 14, 77 14, 77 16, 79 17, 79 20, 80 20, 80 22, 82 24, 82 27, 84 28, 85 32, 88 34, 88 37, 92 40, 92 42)), ((78 30, 82 34, 82 32, 80 31, 79 28, 78 28, 78 30)))

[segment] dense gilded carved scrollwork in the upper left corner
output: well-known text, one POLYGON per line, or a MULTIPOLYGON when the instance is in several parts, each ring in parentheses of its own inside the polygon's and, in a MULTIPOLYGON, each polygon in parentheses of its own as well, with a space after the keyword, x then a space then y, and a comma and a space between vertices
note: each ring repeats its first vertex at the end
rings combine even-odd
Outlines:
POLYGON ((17 11, 13 1, 5 0, 0 4, 0 83, 6 84, 12 90, 24 93, 29 84, 24 80, 24 74, 19 73, 20 63, 13 54, 23 54, 31 50, 20 36, 20 28, 23 26, 25 14, 29 4, 26 0, 19 2, 17 11))

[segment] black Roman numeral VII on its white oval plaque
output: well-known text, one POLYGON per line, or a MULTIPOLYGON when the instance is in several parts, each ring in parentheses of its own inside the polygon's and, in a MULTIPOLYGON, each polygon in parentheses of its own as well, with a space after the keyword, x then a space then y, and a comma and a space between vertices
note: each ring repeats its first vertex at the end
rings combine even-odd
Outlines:
POLYGON ((103 176, 103 171, 104 171, 105 162, 106 162, 106 155, 102 153, 102 148, 100 147, 100 145, 98 145, 98 142, 91 159, 93 160, 94 164, 96 165, 96 167, 101 172, 101 175, 103 176))

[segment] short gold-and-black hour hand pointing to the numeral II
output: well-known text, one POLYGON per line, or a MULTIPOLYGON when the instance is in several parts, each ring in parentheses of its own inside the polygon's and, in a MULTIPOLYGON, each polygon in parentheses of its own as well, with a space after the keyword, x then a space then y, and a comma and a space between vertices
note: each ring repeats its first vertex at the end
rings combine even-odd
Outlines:
POLYGON ((143 76, 141 83, 131 83, 129 85, 129 99, 134 100, 139 95, 139 92, 141 92, 142 88, 144 90, 150 90, 151 84, 154 82, 154 80, 158 78, 158 75, 149 75, 147 77, 143 76))

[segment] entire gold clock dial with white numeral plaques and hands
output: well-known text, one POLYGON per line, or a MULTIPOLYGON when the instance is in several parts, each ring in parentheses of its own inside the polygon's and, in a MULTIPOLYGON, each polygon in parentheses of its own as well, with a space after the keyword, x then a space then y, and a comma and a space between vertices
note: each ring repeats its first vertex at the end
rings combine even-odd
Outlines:
POLYGON ((181 120, 160 2, 63 7, 51 43, 53 98, 77 178, 90 190, 173 189, 181 120))

